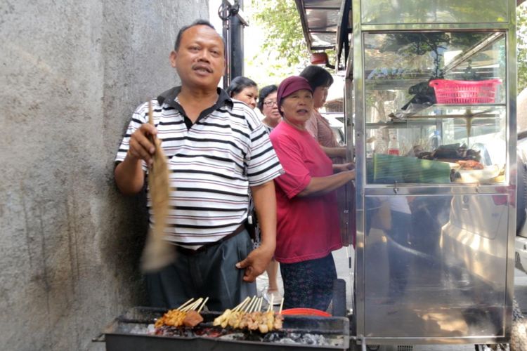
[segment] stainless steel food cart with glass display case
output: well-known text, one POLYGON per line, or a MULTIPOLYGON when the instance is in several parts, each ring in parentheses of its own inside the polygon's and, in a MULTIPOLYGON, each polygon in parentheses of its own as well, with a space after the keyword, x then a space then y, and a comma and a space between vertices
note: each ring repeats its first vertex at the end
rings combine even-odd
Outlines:
POLYGON ((346 76, 357 170, 351 334, 362 347, 507 343, 516 2, 297 0, 297 8, 308 46, 336 48, 346 76))

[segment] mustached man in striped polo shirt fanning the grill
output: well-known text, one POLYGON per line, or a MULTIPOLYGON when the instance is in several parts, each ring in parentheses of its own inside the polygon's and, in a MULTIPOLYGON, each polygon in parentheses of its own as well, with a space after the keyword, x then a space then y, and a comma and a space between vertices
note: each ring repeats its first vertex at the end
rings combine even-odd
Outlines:
MULTIPOLYGON (((147 274, 151 303, 173 308, 209 296, 209 308, 225 310, 256 293, 254 279, 273 256, 273 178, 283 170, 252 109, 217 88, 224 44, 209 22, 180 30, 170 62, 181 86, 152 99, 155 127, 147 123, 148 102, 134 112, 117 152, 115 180, 124 194, 143 189, 154 152, 148 136, 157 135, 171 183, 165 239, 178 253, 174 263, 147 274), (262 237, 254 251, 243 227, 249 187, 262 237)), ((147 205, 151 218, 150 194, 147 205)))

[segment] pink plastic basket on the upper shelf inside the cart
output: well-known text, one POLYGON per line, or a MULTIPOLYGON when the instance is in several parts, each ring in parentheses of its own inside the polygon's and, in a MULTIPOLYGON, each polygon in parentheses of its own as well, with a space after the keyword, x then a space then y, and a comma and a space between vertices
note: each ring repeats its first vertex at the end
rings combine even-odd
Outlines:
POLYGON ((438 104, 491 104, 496 100, 496 86, 501 79, 486 81, 454 81, 434 79, 429 85, 434 87, 438 104))

